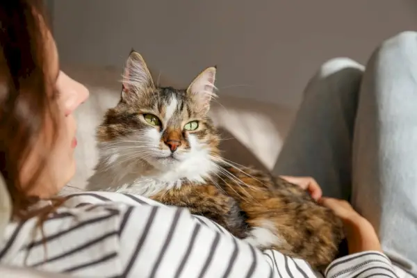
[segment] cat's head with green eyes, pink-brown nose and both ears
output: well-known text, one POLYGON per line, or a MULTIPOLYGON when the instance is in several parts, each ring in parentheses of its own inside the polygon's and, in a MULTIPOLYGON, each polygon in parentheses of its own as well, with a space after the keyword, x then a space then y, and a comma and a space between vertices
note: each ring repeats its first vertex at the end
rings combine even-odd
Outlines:
POLYGON ((120 102, 99 126, 99 143, 161 170, 208 163, 219 152, 218 133, 207 115, 215 97, 215 73, 215 67, 208 67, 186 90, 161 88, 142 56, 131 51, 120 102))

